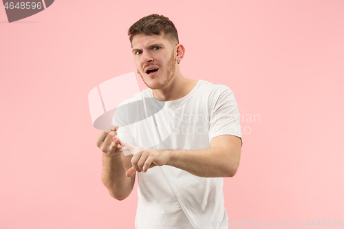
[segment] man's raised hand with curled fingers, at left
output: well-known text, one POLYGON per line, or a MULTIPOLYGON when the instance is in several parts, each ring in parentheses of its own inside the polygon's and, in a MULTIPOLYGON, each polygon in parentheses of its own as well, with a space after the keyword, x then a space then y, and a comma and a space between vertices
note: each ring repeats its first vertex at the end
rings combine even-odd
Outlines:
POLYGON ((100 135, 97 138, 96 146, 98 146, 105 155, 111 157, 122 155, 123 148, 119 144, 120 140, 116 138, 117 130, 117 126, 111 126, 110 129, 100 132, 100 135))

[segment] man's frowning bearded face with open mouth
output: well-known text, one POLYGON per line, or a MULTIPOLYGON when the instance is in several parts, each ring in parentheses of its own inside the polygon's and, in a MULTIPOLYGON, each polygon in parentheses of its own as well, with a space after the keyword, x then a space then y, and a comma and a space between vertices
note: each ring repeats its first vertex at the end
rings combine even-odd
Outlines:
POLYGON ((147 87, 163 89, 175 75, 174 47, 161 35, 133 37, 133 58, 147 87))

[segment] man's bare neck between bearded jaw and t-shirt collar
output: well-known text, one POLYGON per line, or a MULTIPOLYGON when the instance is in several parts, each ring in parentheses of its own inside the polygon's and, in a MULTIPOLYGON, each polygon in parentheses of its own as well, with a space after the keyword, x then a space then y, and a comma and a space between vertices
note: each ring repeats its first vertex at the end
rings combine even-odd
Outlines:
POLYGON ((153 89, 153 96, 158 100, 172 101, 183 98, 197 85, 197 80, 185 78, 182 74, 175 74, 163 89, 153 89))

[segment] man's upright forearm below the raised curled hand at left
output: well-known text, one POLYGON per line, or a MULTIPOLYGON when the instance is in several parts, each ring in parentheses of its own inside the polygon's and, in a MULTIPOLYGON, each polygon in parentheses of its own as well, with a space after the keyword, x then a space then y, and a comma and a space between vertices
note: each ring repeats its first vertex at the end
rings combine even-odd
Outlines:
POLYGON ((131 177, 127 177, 126 172, 121 155, 114 157, 103 154, 102 182, 115 199, 127 198, 133 189, 131 177))

